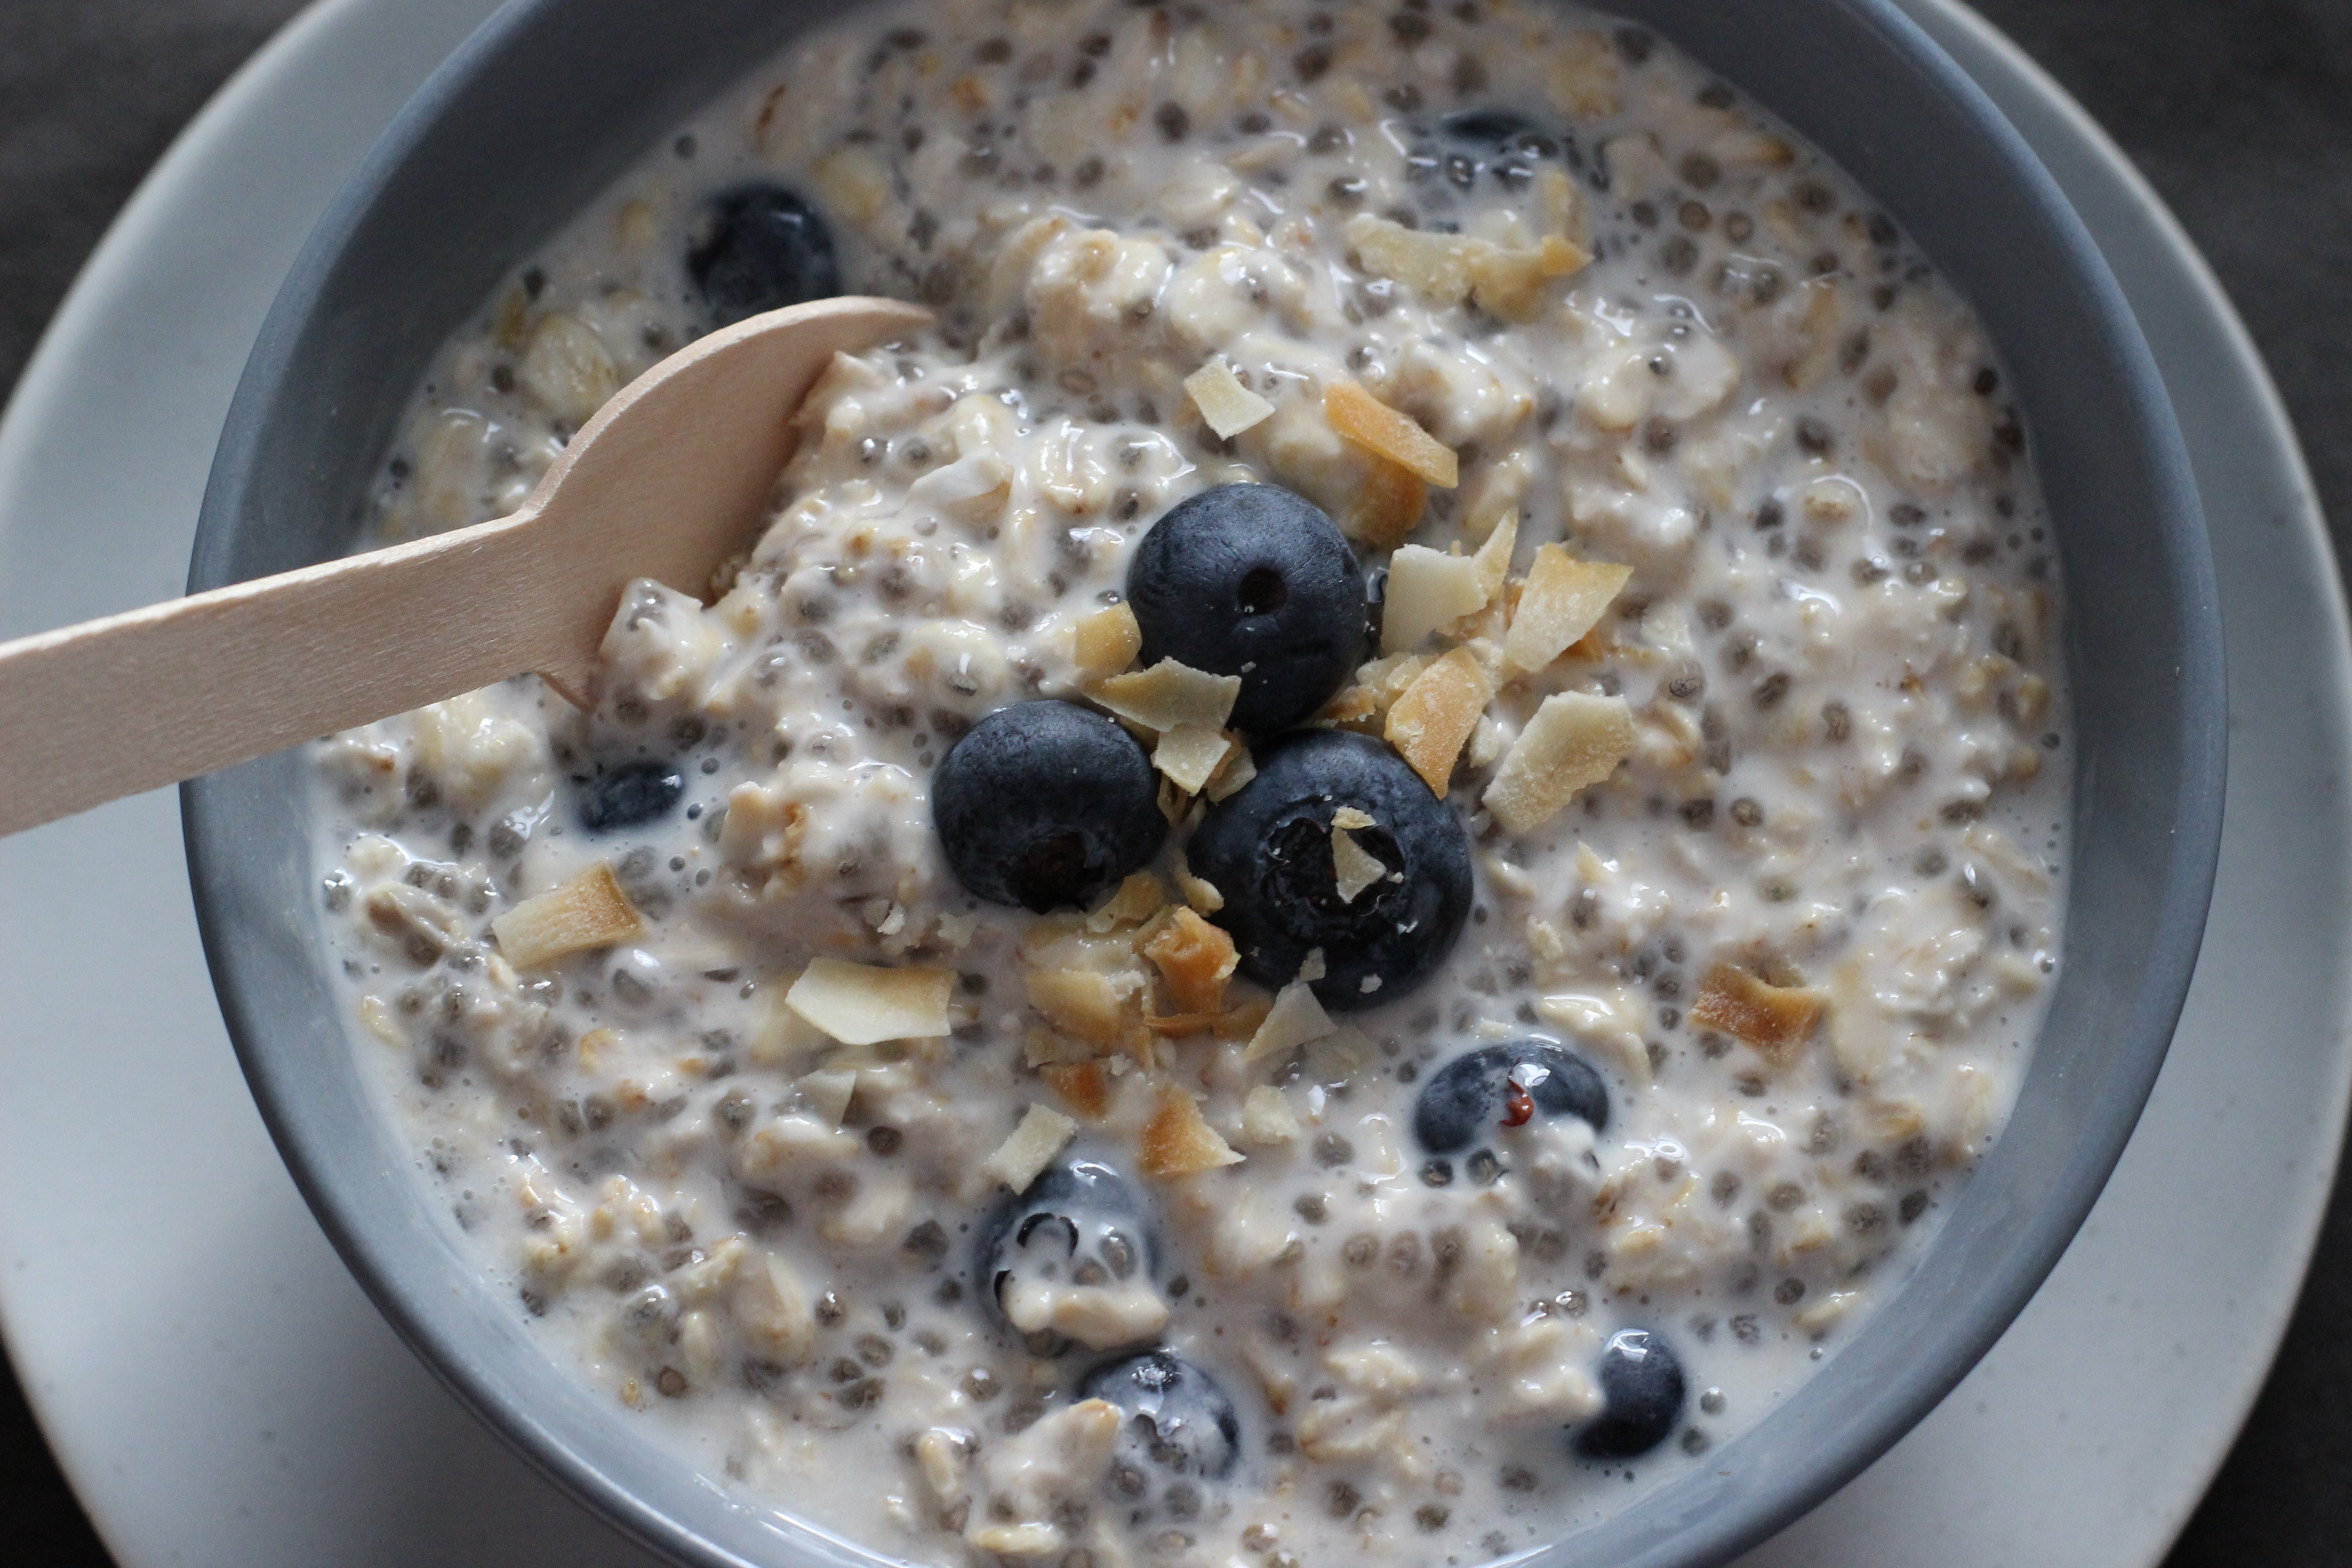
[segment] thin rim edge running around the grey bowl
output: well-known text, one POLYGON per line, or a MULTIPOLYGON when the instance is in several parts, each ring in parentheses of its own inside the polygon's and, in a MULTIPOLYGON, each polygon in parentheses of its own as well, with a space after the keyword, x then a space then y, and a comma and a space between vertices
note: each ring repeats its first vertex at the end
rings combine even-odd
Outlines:
MULTIPOLYGON (((381 186, 416 153, 452 99, 473 78, 494 66, 520 35, 527 35, 543 12, 560 9, 564 2, 508 0, 489 16, 433 71, 318 221, 270 306, 238 383, 205 491, 188 574, 191 592, 235 581, 228 562, 235 534, 242 527, 240 505, 245 482, 256 461, 259 421, 287 378, 289 355, 303 322, 318 306, 343 247, 360 228, 381 186)), ((1642 5, 1642 0, 1618 0, 1618 5, 1604 2, 1599 9, 1672 9, 1675 2, 1653 0, 1651 5, 1642 5)), ((2114 1093, 2105 1103, 2105 1114, 2082 1128, 2072 1171, 2086 1173, 2086 1180, 2079 1180, 2067 1192, 2058 1192, 2034 1222, 2027 1225, 2011 1251, 1999 1288, 1983 1302, 1973 1321, 1947 1331, 1931 1347, 1931 1354, 1922 1356, 1907 1378, 1900 1378, 1863 1420, 1846 1422, 1832 1443, 1818 1448, 1809 1465, 1795 1467, 1780 1486, 1764 1488, 1731 1507, 1719 1507, 1677 1530, 1670 1540, 1616 1559, 1623 1568, 1712 1566, 1766 1540, 1811 1512, 1891 1448, 1999 1340, 2009 1321, 2025 1307, 2065 1253, 2065 1246, 2089 1215, 2091 1204, 2105 1187, 2107 1173, 2138 1124, 2187 997, 2204 938, 2213 870, 2220 856, 2227 693, 2220 654, 2218 588, 2194 477, 2154 355, 2089 228, 2034 150, 1976 80, 1891 0, 1823 0, 1823 5, 1844 12, 1851 21, 1877 33, 1917 80, 1940 94, 1969 122, 1969 129, 2009 165, 2009 172, 2039 209, 2039 216, 2051 223, 2056 244, 2089 292, 2093 329, 2105 339, 2129 376, 2129 395, 2140 425, 2138 437, 2145 442, 2159 494, 2159 512, 2152 520, 2157 550, 2166 564, 2164 576, 2171 602, 2183 618, 2176 736, 2183 764, 2180 788, 2173 797, 2173 832, 2161 849, 2161 875, 2157 877, 2166 889, 2166 900, 2154 924, 2145 983, 2133 1006, 2133 1018, 2138 1020, 2133 1034, 2136 1051, 2110 1074, 2114 1093)), ((1661 26, 1661 31, 1672 38, 1670 26, 1661 26)), ((1738 71, 1724 71, 1724 75, 1738 80, 1738 71)), ((1773 106, 1766 103, 1766 108, 1773 106)), ((336 1152, 315 1147, 303 1138, 299 1107, 280 1095, 273 1077, 266 1048, 270 1032, 268 1001, 249 985, 249 976, 240 966, 230 943, 235 914, 226 889, 235 877, 235 842, 228 825, 235 792, 233 780, 235 773, 216 773, 181 785, 183 839, 205 957, 230 1041, 235 1044, 263 1124, 346 1267, 350 1267, 362 1291, 426 1368, 508 1448, 572 1497, 621 1526, 640 1544, 673 1561, 755 1568, 753 1559, 743 1559, 701 1535, 687 1519, 666 1514, 637 1497, 623 1479, 581 1453, 564 1432, 543 1422, 536 1410, 515 1408, 515 1403, 506 1401, 496 1392, 485 1359, 475 1354, 459 1331, 461 1326, 447 1324, 442 1309, 437 1309, 445 1291, 435 1288, 428 1272, 405 1272, 397 1258, 379 1251, 376 1239, 365 1225, 365 1215, 353 1206, 348 1173, 339 1168, 336 1152)), ((1769 1420, 1759 1422, 1757 1429, 1769 1429, 1769 1420)), ((1632 1512, 1639 1512, 1639 1505, 1632 1512)), ((1585 1535, 1592 1535, 1592 1530, 1571 1533, 1562 1542, 1545 1542, 1531 1549, 1531 1556, 1536 1563, 1545 1563, 1585 1535)), ((849 1547, 849 1556, 844 1556, 837 1549, 837 1540, 802 1535, 797 1542, 786 1542, 786 1547, 795 1544, 809 1561, 891 1561, 858 1547, 849 1547)), ((1526 1556, 1522 1554, 1522 1561, 1526 1556)))

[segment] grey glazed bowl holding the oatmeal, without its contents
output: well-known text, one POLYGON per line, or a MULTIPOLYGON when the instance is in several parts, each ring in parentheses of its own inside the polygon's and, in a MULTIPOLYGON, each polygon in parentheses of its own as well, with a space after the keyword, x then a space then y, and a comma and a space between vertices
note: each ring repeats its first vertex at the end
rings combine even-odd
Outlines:
MULTIPOLYGON (((833 9, 517 0, 475 33, 386 132, 280 292, 228 414, 191 588, 343 552, 442 339, 668 125, 833 9)), ((1809 1382, 1717 1462, 1534 1559, 1696 1568, 1799 1516, 1910 1429, 2091 1208, 2197 959, 2225 698, 2213 569, 2154 362, 2082 221, 1992 103, 1886 0, 1611 9, 1844 165, 1969 296, 2032 430, 2070 585, 2065 966, 2009 1128, 1917 1267, 1809 1382)), ((188 860, 245 1074, 353 1274, 492 1429, 649 1547, 687 1563, 880 1561, 729 1497, 633 1432, 461 1251, 348 1039, 299 809, 306 766, 285 752, 186 785, 188 860)))

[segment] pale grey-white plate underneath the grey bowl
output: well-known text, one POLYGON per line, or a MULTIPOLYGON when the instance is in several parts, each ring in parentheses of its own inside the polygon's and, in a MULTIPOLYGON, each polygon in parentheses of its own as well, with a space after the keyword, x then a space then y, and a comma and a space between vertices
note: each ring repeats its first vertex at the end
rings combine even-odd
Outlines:
MULTIPOLYGON (((2131 292, 2230 628, 2230 825, 2147 1117, 2027 1312, 1755 1566, 2147 1568, 2227 1453, 2336 1166, 2352 1058, 2352 663, 2319 508, 2237 317, 2089 120, 1905 0, 2018 120, 2131 292)), ((179 590, 278 277, 487 0, 329 0, 205 110, 0 423, 0 635, 179 590)), ((350 1284, 238 1077, 169 795, 0 842, 0 1326, 125 1568, 644 1563, 449 1399, 350 1284)), ((325 1041, 322 1041, 325 1048, 325 1041)))

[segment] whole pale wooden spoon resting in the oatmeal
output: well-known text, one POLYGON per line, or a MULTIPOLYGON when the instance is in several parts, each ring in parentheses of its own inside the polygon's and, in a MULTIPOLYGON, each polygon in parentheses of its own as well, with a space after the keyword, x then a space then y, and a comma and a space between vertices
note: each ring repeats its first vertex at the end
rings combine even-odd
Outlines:
POLYGON ((0 835, 527 670, 586 703, 621 590, 703 592, 833 355, 929 320, 755 315, 621 388, 510 517, 0 644, 0 835))

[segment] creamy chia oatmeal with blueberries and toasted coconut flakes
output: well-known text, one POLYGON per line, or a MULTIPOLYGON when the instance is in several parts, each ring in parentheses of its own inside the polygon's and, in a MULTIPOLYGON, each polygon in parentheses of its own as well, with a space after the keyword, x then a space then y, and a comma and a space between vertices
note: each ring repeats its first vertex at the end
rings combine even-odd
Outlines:
POLYGON ((320 743, 360 1048, 515 1312, 938 1563, 1482 1561, 1764 1418, 2058 964, 1966 306, 1573 7, 868 7, 496 292, 381 534, 844 289, 936 327, 593 712, 320 743))

